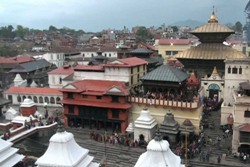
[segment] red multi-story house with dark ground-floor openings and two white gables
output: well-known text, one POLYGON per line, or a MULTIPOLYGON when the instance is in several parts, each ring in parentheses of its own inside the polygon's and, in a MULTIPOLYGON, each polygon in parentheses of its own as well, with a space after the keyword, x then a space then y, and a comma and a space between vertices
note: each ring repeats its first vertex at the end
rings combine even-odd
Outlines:
POLYGON ((125 133, 131 104, 124 82, 82 80, 66 85, 62 104, 70 126, 125 133))

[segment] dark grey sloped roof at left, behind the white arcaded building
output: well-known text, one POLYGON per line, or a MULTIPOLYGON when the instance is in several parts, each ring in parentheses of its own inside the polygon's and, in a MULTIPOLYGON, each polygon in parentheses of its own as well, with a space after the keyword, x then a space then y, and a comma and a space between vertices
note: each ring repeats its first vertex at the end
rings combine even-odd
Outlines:
POLYGON ((10 72, 12 73, 31 72, 31 71, 35 71, 37 69, 41 69, 41 68, 49 67, 49 66, 50 66, 50 63, 47 60, 39 59, 36 61, 31 61, 31 62, 20 64, 18 67, 12 69, 10 72))

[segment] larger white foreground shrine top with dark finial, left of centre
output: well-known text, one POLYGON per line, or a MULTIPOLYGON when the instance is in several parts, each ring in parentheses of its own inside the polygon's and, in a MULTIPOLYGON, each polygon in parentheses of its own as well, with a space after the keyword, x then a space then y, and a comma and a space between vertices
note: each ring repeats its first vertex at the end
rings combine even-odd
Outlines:
POLYGON ((66 132, 61 121, 56 134, 50 138, 46 152, 37 159, 37 167, 99 167, 92 162, 89 150, 79 146, 72 133, 66 132))

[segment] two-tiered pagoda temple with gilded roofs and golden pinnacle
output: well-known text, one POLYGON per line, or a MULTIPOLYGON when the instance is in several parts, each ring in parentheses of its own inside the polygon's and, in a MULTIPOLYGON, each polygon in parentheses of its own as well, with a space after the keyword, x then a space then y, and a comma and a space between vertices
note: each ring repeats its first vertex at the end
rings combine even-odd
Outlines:
POLYGON ((199 78, 206 74, 210 75, 215 66, 221 72, 220 75, 224 75, 225 59, 246 57, 243 53, 223 44, 227 37, 234 34, 234 31, 221 25, 214 11, 208 23, 192 30, 190 33, 199 38, 201 43, 176 54, 176 58, 188 71, 198 72, 199 78))

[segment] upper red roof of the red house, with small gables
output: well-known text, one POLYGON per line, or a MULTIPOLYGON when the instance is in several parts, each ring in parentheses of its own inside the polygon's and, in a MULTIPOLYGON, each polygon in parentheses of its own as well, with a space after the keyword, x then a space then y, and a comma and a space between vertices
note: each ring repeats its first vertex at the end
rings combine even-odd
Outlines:
POLYGON ((67 88, 68 85, 64 86, 61 91, 63 92, 82 92, 82 94, 99 94, 104 95, 108 94, 108 90, 112 89, 113 87, 118 88, 121 90, 119 95, 127 96, 129 95, 129 91, 125 86, 124 82, 119 81, 107 81, 107 80, 82 80, 77 81, 71 84, 76 89, 69 89, 67 88))

